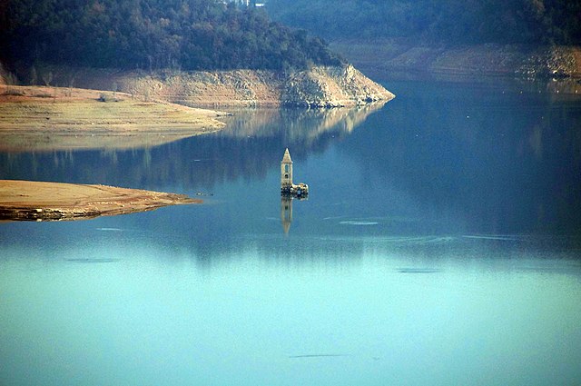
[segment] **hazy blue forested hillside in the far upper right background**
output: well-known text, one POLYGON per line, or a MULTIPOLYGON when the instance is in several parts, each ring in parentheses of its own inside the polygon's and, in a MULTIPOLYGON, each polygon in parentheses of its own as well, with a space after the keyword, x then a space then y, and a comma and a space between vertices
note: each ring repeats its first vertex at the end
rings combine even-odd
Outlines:
POLYGON ((581 43, 579 0, 270 0, 268 7, 273 19, 329 39, 581 43))

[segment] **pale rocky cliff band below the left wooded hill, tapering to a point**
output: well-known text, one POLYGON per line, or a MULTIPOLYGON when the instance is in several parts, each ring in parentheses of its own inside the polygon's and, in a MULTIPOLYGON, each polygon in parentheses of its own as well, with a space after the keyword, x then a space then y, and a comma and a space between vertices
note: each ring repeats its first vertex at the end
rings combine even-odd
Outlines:
POLYGON ((395 95, 351 65, 308 70, 212 71, 156 74, 81 72, 75 85, 148 99, 203 106, 340 107, 389 101, 395 95), (112 86, 114 84, 114 86, 112 86))

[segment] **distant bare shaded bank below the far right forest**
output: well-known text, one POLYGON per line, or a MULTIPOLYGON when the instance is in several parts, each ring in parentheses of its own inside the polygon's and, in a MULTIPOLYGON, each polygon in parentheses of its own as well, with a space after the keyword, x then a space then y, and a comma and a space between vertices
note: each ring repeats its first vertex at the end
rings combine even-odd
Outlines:
POLYGON ((379 79, 500 77, 578 84, 578 88, 560 91, 581 93, 580 46, 444 46, 392 38, 335 41, 330 47, 363 73, 379 79))

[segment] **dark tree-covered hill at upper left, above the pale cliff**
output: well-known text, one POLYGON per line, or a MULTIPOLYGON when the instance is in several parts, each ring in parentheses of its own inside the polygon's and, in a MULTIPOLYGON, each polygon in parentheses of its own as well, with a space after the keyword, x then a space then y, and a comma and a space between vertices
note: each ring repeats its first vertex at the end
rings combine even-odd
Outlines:
POLYGON ((0 0, 0 59, 116 68, 339 64, 319 38, 218 0, 0 0))

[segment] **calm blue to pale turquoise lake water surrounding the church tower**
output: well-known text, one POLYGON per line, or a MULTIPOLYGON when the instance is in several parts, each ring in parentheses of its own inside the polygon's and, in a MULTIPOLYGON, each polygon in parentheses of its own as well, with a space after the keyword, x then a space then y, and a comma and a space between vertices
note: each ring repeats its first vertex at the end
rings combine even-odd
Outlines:
POLYGON ((581 384, 581 100, 386 86, 148 149, 0 154, 0 178, 204 199, 0 223, 0 384, 581 384), (285 147, 306 201, 281 201, 285 147))

